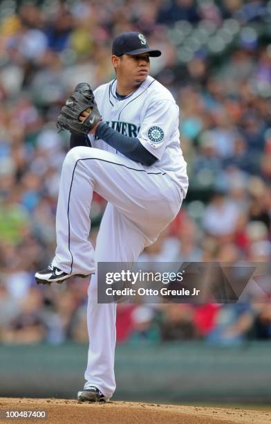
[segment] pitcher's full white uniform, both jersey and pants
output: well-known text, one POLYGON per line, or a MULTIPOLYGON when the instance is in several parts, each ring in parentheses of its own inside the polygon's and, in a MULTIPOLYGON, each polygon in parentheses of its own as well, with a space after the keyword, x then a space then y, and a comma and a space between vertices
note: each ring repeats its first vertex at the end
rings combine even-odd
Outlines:
POLYGON ((118 100, 116 81, 95 90, 104 121, 138 137, 158 161, 144 166, 90 137, 66 155, 57 202, 57 249, 53 265, 67 274, 93 274, 88 289, 89 334, 85 389, 106 398, 115 391, 115 303, 97 303, 97 263, 133 263, 145 246, 174 220, 188 186, 180 149, 178 106, 169 91, 148 77, 118 100), (95 250, 89 240, 93 191, 108 201, 95 250))

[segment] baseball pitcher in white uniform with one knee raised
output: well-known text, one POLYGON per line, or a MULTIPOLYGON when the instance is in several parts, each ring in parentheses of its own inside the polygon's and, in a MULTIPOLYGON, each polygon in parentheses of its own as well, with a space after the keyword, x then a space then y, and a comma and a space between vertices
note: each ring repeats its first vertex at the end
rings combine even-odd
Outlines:
POLYGON ((179 109, 171 93, 149 76, 160 56, 144 35, 113 40, 115 79, 95 91, 77 85, 57 119, 71 132, 57 203, 53 262, 37 283, 91 275, 86 384, 80 401, 98 402, 115 391, 116 303, 97 303, 97 263, 134 262, 174 220, 188 188, 180 149, 179 109), (88 240, 93 191, 108 201, 95 251, 88 240))

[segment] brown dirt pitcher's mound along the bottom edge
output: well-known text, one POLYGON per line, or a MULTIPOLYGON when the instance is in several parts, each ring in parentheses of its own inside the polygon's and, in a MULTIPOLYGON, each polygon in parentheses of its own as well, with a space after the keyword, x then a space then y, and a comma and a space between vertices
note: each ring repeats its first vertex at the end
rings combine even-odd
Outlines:
POLYGON ((97 424, 226 424, 226 423, 270 423, 271 413, 244 409, 224 409, 160 405, 151 403, 109 402, 101 404, 77 403, 62 399, 17 399, 0 398, 3 410, 39 410, 48 413, 47 418, 0 418, 0 424, 19 423, 97 423, 97 424))

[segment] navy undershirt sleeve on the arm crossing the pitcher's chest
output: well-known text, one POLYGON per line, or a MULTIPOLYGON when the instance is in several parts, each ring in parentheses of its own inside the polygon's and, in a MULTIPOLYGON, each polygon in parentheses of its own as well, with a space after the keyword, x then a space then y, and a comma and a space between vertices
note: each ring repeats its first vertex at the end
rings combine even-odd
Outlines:
POLYGON ((157 158, 144 148, 139 139, 120 134, 105 122, 98 125, 95 137, 105 141, 124 156, 129 157, 132 161, 140 162, 142 165, 151 166, 157 161, 157 158))

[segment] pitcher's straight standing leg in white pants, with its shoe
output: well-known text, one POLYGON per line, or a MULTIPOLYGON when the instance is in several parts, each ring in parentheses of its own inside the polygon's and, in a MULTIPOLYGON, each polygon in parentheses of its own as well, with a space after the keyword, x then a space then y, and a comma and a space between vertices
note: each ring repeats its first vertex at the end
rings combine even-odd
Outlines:
MULTIPOLYGON (((142 234, 118 209, 107 204, 97 236, 95 262, 133 263, 143 248, 142 234)), ((116 303, 97 303, 97 274, 93 275, 86 313, 89 337, 86 384, 78 393, 80 401, 106 400, 115 391, 116 308, 116 303)))

